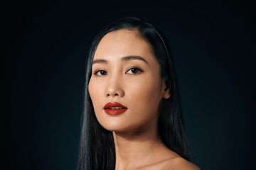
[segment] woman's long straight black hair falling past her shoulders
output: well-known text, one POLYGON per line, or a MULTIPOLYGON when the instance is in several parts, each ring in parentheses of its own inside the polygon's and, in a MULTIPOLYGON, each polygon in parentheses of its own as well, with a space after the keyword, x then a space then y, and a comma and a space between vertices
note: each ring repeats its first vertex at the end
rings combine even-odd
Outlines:
POLYGON ((166 79, 166 86, 171 89, 171 97, 161 101, 158 123, 159 136, 166 147, 188 160, 188 142, 184 132, 176 71, 169 43, 164 35, 150 23, 141 21, 139 18, 127 17, 111 23, 92 42, 87 58, 85 103, 82 115, 78 169, 114 169, 115 166, 112 132, 102 128, 97 121, 88 92, 88 83, 92 75, 92 60, 100 40, 107 33, 121 29, 137 30, 139 35, 151 45, 154 57, 156 57, 161 67, 161 77, 166 79))

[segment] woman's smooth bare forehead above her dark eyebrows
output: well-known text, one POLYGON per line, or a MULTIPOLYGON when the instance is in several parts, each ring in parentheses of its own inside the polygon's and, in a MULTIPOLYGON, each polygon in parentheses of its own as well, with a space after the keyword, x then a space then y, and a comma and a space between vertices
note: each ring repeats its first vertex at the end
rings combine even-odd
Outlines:
POLYGON ((122 29, 107 33, 97 46, 94 58, 113 59, 128 55, 152 56, 149 43, 141 38, 137 30, 122 29))

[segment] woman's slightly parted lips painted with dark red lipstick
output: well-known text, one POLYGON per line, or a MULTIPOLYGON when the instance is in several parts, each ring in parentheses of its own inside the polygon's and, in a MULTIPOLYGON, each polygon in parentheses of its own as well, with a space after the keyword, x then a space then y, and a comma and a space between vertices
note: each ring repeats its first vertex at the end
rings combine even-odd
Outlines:
POLYGON ((121 115, 122 113, 127 111, 127 109, 127 107, 123 106, 118 102, 107 103, 104 106, 104 111, 108 115, 121 115))

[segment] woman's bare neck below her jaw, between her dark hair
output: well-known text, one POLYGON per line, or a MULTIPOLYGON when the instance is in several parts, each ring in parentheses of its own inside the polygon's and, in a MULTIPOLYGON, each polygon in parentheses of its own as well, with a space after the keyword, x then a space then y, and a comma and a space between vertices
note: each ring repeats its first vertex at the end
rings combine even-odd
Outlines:
POLYGON ((157 158, 157 155, 161 154, 160 148, 164 148, 157 132, 157 125, 151 123, 129 132, 113 132, 113 137, 116 169, 136 169, 145 166, 152 158, 157 158))

